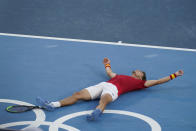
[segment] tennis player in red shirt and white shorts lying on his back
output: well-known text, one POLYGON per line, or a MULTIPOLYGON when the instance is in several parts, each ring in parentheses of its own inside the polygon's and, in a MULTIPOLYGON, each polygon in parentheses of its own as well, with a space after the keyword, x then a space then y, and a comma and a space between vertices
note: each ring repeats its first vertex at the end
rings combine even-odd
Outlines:
POLYGON ((168 82, 178 76, 182 76, 184 73, 183 70, 179 70, 176 73, 159 80, 146 80, 146 74, 143 71, 135 70, 132 72, 131 76, 118 75, 112 72, 110 60, 108 58, 104 58, 103 64, 105 65, 107 75, 111 78, 109 81, 85 88, 74 93, 72 96, 57 102, 48 102, 38 97, 36 99, 38 104, 44 106, 49 111, 53 111, 57 107, 72 105, 79 100, 87 101, 100 98, 99 105, 87 116, 88 120, 96 120, 102 114, 107 104, 115 101, 120 95, 133 90, 144 89, 168 82))

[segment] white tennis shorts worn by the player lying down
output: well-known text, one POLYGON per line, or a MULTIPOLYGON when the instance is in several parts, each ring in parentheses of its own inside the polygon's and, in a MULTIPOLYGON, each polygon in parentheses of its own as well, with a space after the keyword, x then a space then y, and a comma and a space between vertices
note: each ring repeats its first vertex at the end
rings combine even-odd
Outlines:
POLYGON ((110 94, 112 96, 112 101, 115 101, 118 98, 117 87, 108 82, 101 82, 85 89, 89 92, 92 100, 100 98, 104 94, 110 94))

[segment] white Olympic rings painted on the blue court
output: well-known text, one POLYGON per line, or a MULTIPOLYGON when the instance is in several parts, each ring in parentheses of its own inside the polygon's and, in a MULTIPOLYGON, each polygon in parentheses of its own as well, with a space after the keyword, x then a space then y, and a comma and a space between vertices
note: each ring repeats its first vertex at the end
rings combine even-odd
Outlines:
MULTIPOLYGON (((10 100, 10 99, 0 99, 0 102, 32 106, 32 104, 27 103, 27 102, 10 100)), ((54 122, 49 122, 49 121, 45 121, 46 120, 45 113, 42 110, 38 109, 38 110, 33 110, 33 112, 36 115, 36 119, 34 121, 19 121, 19 122, 1 124, 0 128, 9 128, 13 126, 27 125, 27 127, 24 128, 24 129, 27 129, 31 127, 39 127, 40 125, 48 125, 49 131, 58 131, 59 128, 65 129, 67 131, 80 131, 79 129, 73 126, 69 126, 63 123, 72 118, 89 114, 91 111, 92 110, 72 113, 72 114, 63 116, 55 120, 54 122)), ((145 115, 141 115, 141 114, 134 113, 134 112, 122 111, 122 110, 105 110, 104 113, 112 113, 112 114, 120 114, 120 115, 126 115, 130 117, 136 117, 148 123, 151 127, 151 131, 161 131, 161 126, 159 125, 159 123, 157 123, 155 120, 145 115)))

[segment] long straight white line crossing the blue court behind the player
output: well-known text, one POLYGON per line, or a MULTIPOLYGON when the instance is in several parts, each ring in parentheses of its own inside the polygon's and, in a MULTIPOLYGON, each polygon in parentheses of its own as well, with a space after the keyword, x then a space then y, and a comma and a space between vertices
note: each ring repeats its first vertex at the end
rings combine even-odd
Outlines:
POLYGON ((88 42, 88 43, 96 43, 96 44, 120 45, 120 46, 132 46, 132 47, 144 47, 144 48, 155 48, 155 49, 166 49, 166 50, 178 50, 178 51, 196 52, 196 49, 175 48, 175 47, 165 47, 165 46, 153 46, 153 45, 138 45, 138 44, 122 43, 121 41, 119 41, 119 42, 105 42, 105 41, 69 39, 69 38, 34 36, 34 35, 11 34, 11 33, 0 33, 0 36, 14 36, 14 37, 61 40, 61 41, 74 41, 74 42, 88 42))

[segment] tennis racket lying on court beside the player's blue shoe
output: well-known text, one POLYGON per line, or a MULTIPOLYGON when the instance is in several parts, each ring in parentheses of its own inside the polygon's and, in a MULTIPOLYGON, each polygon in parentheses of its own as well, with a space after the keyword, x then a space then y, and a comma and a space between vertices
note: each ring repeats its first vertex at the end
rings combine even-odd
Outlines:
POLYGON ((6 111, 11 112, 11 113, 21 113, 21 112, 27 112, 33 109, 45 109, 45 108, 41 106, 13 105, 13 106, 8 106, 6 108, 6 111))

